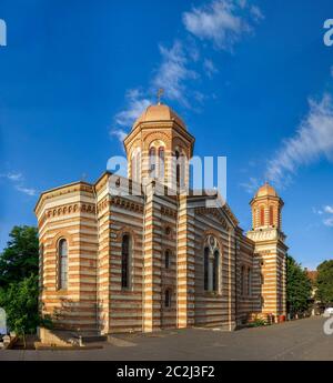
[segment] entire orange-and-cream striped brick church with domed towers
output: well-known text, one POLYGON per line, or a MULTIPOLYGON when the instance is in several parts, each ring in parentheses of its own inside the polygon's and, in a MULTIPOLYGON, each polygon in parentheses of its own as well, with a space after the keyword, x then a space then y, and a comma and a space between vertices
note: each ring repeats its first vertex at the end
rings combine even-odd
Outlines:
POLYGON ((282 199, 262 185, 243 232, 226 203, 208 203, 218 192, 184 188, 193 148, 183 120, 159 102, 124 139, 127 178, 111 182, 107 171, 40 195, 40 310, 58 329, 232 331, 255 318, 283 319, 282 199), (117 190, 123 181, 128 193, 117 190))

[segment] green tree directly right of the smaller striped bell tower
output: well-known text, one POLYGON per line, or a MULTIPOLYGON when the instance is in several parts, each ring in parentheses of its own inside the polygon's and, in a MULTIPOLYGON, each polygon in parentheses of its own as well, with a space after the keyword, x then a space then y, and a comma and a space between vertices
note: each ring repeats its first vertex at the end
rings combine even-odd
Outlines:
POLYGON ((296 261, 286 256, 286 304, 289 313, 305 312, 310 306, 312 283, 306 271, 296 261))

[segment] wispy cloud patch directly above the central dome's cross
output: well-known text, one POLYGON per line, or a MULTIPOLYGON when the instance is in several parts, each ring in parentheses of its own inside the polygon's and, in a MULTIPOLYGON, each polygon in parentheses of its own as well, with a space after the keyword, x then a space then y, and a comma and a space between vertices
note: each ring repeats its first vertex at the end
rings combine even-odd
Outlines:
POLYGON ((199 75, 188 68, 188 58, 180 41, 175 41, 171 49, 160 46, 162 63, 152 81, 155 89, 163 88, 167 99, 178 101, 190 107, 186 99, 185 80, 194 80, 199 75))

